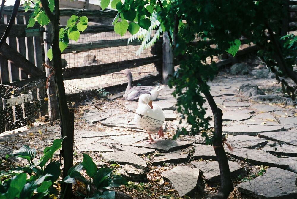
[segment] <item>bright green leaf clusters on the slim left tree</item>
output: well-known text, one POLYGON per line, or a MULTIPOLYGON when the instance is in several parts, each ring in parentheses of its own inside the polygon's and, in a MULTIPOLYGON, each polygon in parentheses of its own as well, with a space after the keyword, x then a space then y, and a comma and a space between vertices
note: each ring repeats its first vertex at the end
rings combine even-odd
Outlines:
MULTIPOLYGON (((42 7, 40 0, 25 1, 23 7, 25 7, 25 12, 31 8, 33 4, 33 11, 30 15, 27 28, 35 26, 35 23, 39 23, 40 26, 47 25, 50 22, 48 15, 46 15, 44 8, 42 7)), ((55 9, 54 0, 48 1, 48 7, 50 12, 55 9)), ((59 32, 59 47, 61 53, 67 48, 69 40, 77 41, 80 36, 80 32, 83 32, 88 26, 88 18, 86 16, 72 15, 69 20, 67 20, 67 26, 60 29, 59 32)), ((53 52, 50 48, 48 50, 47 56, 50 60, 53 59, 53 52)))

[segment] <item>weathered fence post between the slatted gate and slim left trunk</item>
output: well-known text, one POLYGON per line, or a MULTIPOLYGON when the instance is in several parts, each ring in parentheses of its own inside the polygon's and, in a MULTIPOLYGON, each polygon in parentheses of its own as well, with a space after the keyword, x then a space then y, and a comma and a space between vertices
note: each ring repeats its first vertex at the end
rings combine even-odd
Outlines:
MULTIPOLYGON (((49 23, 45 26, 45 33, 43 34, 44 38, 44 61, 45 64, 52 67, 52 61, 50 61, 47 57, 48 49, 52 45, 53 41, 53 26, 49 23)), ((52 74, 53 70, 51 68, 45 68, 46 77, 48 78, 50 74, 52 74)), ((58 102, 57 102, 57 90, 56 84, 53 75, 48 80, 48 116, 51 121, 59 119, 59 109, 58 109, 58 102)))

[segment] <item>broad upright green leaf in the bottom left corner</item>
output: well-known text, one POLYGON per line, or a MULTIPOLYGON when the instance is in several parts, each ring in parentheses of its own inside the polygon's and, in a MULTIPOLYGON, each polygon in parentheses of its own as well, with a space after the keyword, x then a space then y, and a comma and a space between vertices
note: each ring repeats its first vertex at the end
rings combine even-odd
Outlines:
POLYGON ((20 197, 20 192, 23 189, 23 186, 26 184, 26 173, 20 173, 17 176, 13 176, 9 184, 9 188, 5 193, 7 198, 18 198, 20 197))

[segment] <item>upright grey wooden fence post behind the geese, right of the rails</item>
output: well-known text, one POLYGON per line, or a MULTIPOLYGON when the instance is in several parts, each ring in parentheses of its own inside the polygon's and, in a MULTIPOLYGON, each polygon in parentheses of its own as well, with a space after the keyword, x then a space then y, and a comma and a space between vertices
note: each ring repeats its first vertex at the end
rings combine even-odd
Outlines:
POLYGON ((168 76, 172 75, 174 72, 173 66, 173 53, 170 45, 170 40, 168 33, 163 33, 163 67, 162 67, 162 76, 163 84, 167 84, 168 76))

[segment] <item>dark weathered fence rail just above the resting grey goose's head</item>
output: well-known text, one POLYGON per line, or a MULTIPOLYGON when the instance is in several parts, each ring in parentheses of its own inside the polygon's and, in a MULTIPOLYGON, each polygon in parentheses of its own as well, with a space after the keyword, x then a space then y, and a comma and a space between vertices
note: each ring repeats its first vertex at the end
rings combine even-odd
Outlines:
POLYGON ((64 80, 96 77, 112 72, 119 72, 125 68, 139 67, 151 63, 159 63, 161 65, 162 58, 160 56, 154 56, 93 66, 66 68, 64 69, 63 77, 64 80))

